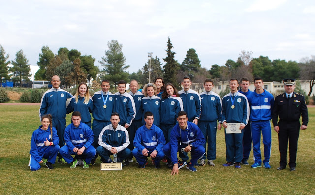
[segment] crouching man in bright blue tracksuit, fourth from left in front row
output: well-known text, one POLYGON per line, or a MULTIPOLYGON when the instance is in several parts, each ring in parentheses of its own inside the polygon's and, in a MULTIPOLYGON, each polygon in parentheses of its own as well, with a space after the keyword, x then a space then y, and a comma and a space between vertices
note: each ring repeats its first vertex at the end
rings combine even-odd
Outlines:
POLYGON ((139 163, 139 168, 145 168, 147 165, 147 157, 150 156, 154 160, 156 168, 161 168, 160 161, 164 158, 163 147, 165 138, 162 130, 153 124, 152 112, 144 113, 145 125, 141 126, 134 137, 133 156, 139 163))

